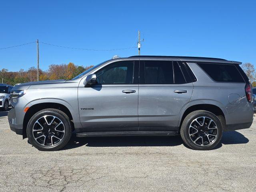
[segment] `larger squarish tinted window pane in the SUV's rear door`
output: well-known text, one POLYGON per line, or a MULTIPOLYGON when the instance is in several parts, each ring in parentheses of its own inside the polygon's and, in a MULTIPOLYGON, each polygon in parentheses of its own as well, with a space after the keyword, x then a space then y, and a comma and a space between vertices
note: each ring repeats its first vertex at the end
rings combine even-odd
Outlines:
POLYGON ((145 61, 145 84, 173 84, 170 61, 145 61))

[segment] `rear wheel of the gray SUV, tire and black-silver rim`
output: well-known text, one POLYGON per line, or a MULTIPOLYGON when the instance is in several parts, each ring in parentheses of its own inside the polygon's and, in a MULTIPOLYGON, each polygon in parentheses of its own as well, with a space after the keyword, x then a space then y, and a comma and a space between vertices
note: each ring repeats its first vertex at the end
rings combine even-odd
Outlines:
POLYGON ((211 112, 197 110, 188 114, 180 128, 184 143, 194 150, 211 150, 222 138, 222 123, 211 112))

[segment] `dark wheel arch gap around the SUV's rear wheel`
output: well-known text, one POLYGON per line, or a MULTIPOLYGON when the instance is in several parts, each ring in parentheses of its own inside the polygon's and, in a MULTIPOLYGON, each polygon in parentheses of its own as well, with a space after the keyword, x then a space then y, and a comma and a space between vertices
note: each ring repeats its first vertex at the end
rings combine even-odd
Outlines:
MULTIPOLYGON (((178 126, 181 127, 184 118, 188 114, 190 114, 191 112, 196 111, 196 110, 206 110, 208 112, 211 112, 214 115, 218 116, 218 118, 220 119, 223 126, 226 125, 225 114, 220 107, 218 107, 214 104, 194 104, 194 105, 186 108, 186 110, 184 110, 183 114, 181 114, 178 126)), ((225 127, 223 127, 223 129, 225 130, 225 127)))

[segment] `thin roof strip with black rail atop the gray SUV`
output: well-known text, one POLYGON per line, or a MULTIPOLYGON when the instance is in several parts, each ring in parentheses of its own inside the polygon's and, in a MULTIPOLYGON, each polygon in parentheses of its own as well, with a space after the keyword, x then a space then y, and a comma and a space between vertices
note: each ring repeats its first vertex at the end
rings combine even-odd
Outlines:
POLYGON ((226 59, 220 58, 211 58, 211 57, 189 57, 189 56, 130 56, 128 58, 142 58, 142 59, 179 59, 181 61, 187 62, 216 62, 216 63, 229 63, 229 64, 242 64, 237 61, 229 61, 226 59))

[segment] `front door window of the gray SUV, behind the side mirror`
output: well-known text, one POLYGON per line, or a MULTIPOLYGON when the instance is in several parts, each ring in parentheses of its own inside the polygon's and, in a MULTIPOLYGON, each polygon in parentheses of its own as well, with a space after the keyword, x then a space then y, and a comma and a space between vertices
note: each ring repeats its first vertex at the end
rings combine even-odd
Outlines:
POLYGON ((96 72, 98 84, 132 84, 134 62, 116 62, 96 72))

